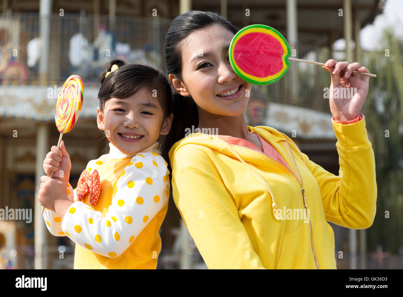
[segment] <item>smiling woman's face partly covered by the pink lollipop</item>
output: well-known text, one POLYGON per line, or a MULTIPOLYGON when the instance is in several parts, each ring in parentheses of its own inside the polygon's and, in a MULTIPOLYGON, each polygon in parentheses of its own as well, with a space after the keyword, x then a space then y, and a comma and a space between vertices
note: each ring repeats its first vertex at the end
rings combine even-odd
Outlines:
POLYGON ((212 25, 181 42, 182 80, 170 75, 170 81, 178 93, 191 95, 206 113, 239 116, 246 110, 251 84, 237 76, 229 62, 234 35, 223 26, 212 25))

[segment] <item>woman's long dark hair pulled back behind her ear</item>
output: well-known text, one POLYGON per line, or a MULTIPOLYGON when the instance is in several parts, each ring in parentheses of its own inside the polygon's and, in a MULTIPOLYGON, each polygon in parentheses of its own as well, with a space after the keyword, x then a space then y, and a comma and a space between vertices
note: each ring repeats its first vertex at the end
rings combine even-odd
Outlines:
MULTIPOLYGON (((224 17, 209 11, 189 11, 176 17, 165 34, 165 65, 168 74, 182 80, 182 48, 181 41, 191 33, 206 29, 212 25, 221 25, 236 34, 238 30, 224 17)), ((166 139, 168 152, 175 142, 185 137, 185 129, 192 125, 197 127, 199 115, 197 106, 191 96, 183 97, 173 90, 173 121, 166 139)), ((168 153, 167 152, 167 153, 168 153)), ((169 158, 167 159, 169 160, 169 158)), ((168 166, 171 172, 170 166, 168 166)))

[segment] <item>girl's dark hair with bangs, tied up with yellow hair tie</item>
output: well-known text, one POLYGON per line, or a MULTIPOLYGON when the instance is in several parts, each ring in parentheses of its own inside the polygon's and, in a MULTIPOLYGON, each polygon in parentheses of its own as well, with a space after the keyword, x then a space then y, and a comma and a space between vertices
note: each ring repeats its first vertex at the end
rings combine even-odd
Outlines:
MULTIPOLYGON (((126 63, 122 60, 113 60, 107 66, 104 72, 100 74, 98 80, 101 82, 98 99, 100 101, 100 110, 104 110, 105 101, 110 98, 124 99, 132 96, 141 88, 146 88, 147 92, 152 93, 156 90, 157 99, 164 111, 164 119, 172 113, 172 91, 169 80, 164 76, 164 72, 158 68, 141 64, 126 63), (105 78, 107 72, 110 72, 112 65, 118 65, 105 78)), ((161 152, 166 149, 166 135, 160 135, 161 152)), ((163 155, 165 160, 169 160, 168 154, 163 155)))

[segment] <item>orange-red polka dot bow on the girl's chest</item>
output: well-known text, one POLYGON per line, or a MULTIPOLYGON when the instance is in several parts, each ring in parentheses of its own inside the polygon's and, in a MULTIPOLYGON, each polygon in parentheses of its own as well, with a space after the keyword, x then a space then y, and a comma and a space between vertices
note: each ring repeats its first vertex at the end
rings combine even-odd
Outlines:
POLYGON ((94 170, 92 175, 87 169, 81 173, 77 183, 77 200, 81 201, 89 192, 89 203, 92 206, 97 204, 101 193, 101 182, 98 171, 94 170))

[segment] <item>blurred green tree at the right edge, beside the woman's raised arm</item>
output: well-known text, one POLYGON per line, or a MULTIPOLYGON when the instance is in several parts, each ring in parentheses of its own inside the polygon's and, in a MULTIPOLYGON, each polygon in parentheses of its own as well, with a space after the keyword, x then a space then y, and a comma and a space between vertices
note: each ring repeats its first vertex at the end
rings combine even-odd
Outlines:
POLYGON ((396 253, 403 246, 403 44, 386 29, 382 52, 364 53, 366 67, 377 75, 363 114, 375 154, 378 197, 368 229, 368 250, 381 244, 396 253), (389 216, 389 218, 386 218, 389 216))

